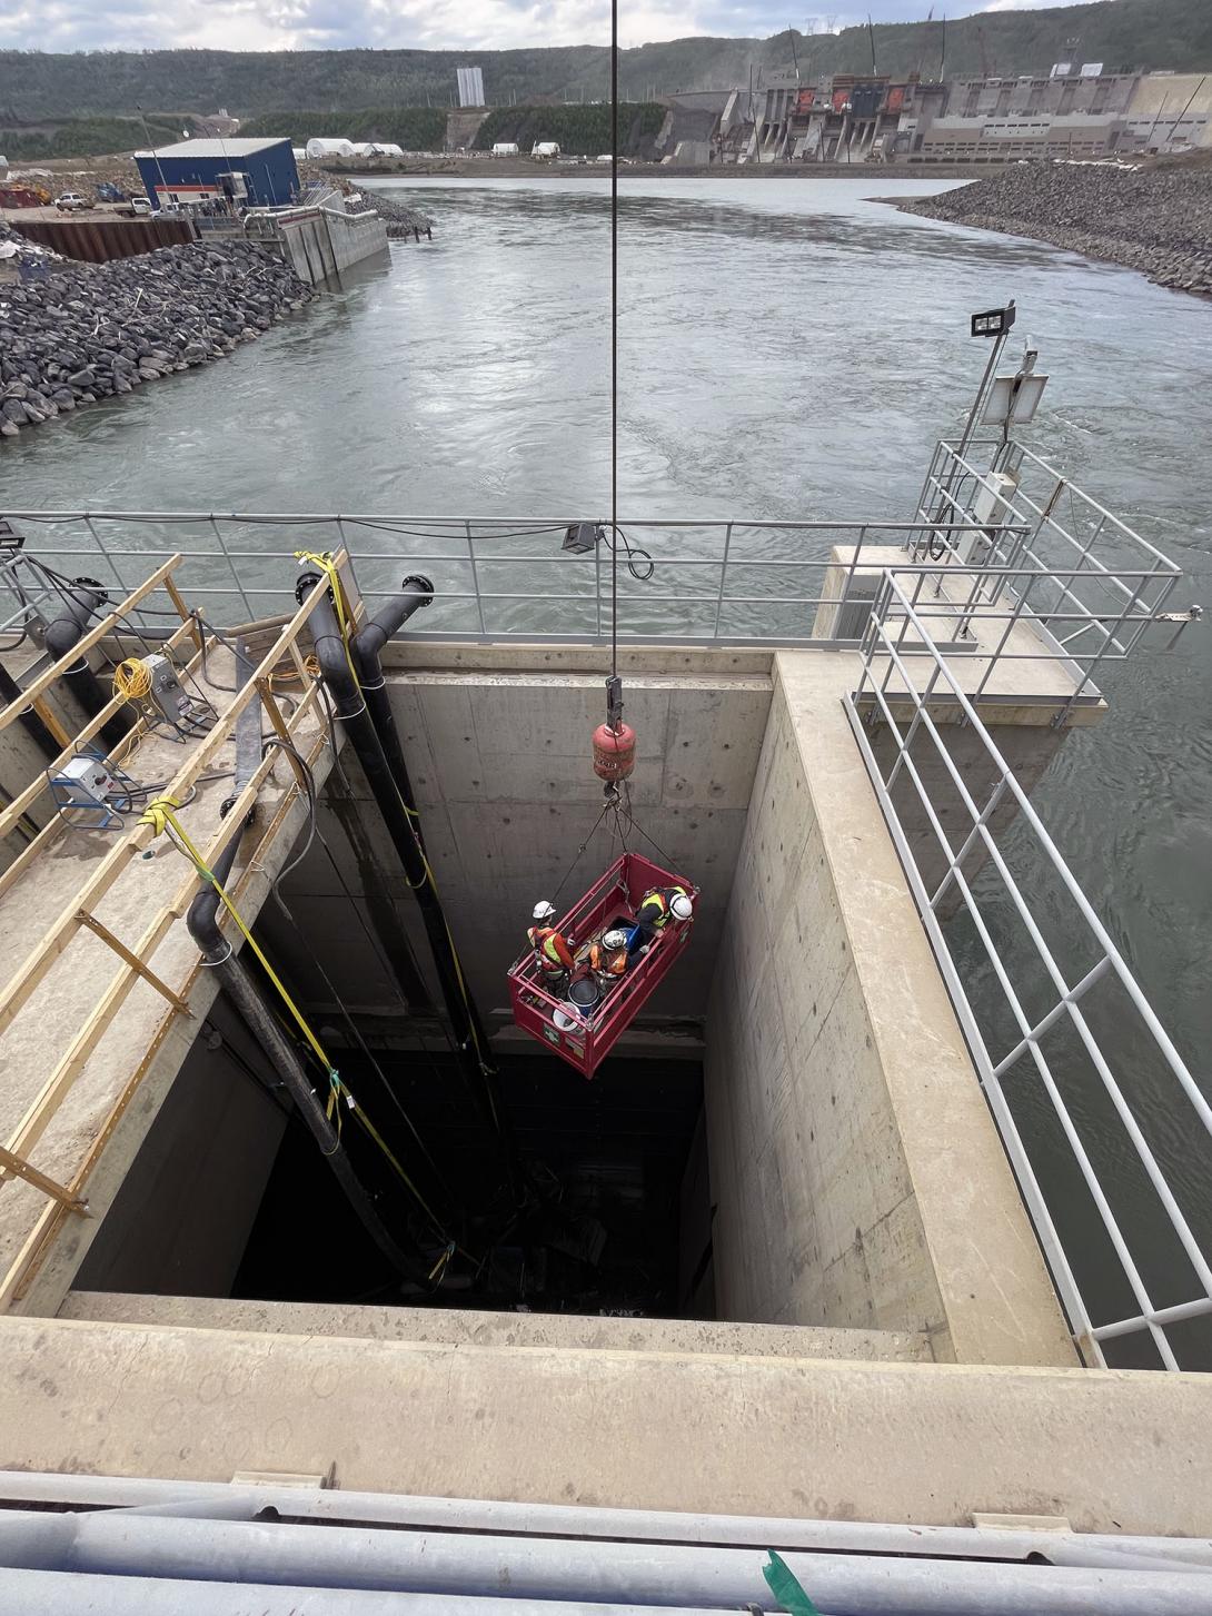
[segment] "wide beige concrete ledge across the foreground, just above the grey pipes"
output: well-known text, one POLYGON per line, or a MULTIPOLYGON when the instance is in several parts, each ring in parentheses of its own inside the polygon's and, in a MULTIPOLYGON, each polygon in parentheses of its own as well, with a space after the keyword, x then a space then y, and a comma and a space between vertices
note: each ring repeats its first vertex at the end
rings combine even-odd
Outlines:
POLYGON ((11 1469, 318 1474, 438 1496, 1212 1532, 1212 1377, 0 1319, 11 1469))

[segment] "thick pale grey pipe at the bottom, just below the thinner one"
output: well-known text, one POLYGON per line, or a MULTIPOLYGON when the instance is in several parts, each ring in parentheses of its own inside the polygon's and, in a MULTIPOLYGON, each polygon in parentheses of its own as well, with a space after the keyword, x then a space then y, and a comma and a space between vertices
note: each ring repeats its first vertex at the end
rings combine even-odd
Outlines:
MULTIPOLYGON (((831 1616, 1207 1616, 1206 1571, 1105 1571, 789 1553, 831 1616)), ((764 1606, 766 1556, 751 1548, 377 1532, 184 1521, 126 1511, 0 1517, 0 1563, 27 1569, 170 1576, 215 1582, 377 1589, 462 1598, 764 1606), (65 1532, 66 1529, 66 1532, 65 1532)))

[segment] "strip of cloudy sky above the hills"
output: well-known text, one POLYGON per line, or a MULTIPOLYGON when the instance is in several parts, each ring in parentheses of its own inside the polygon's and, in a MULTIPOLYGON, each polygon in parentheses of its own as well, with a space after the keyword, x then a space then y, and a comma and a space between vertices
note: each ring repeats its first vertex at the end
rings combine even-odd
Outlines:
MULTIPOLYGON (((1057 0, 939 0, 950 11, 1013 11, 1057 0)), ((1209 0, 1212 3, 1212 0, 1209 0)), ((929 0, 869 0, 877 23, 923 18, 929 0)), ((687 34, 802 32, 866 19, 868 5, 798 11, 787 0, 621 0, 624 45, 687 34)), ((609 39, 603 0, 0 0, 0 48, 317 50, 347 45, 493 50, 609 39)), ((3 105, 0 84, 0 105, 3 105)))

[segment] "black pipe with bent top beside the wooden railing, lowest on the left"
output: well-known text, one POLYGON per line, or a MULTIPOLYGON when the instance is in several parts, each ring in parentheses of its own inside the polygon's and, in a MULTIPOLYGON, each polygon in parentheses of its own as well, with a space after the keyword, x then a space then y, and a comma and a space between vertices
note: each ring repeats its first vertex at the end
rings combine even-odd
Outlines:
MULTIPOLYGON (((226 882, 231 874, 231 868, 236 863, 238 845, 239 835, 233 837, 228 847, 225 847, 215 860, 213 873, 220 884, 226 882)), ((218 905, 218 890, 213 886, 202 887, 194 902, 189 905, 189 915, 186 916, 189 936, 202 950, 205 963, 217 971, 220 981, 223 983, 223 989, 244 1018, 249 1033, 252 1033, 265 1052, 270 1065, 286 1084, 291 1099, 299 1109, 299 1115, 307 1123, 315 1143, 320 1146, 320 1154, 333 1168, 333 1176, 341 1186, 346 1201, 357 1214, 365 1231, 398 1273, 427 1285, 428 1273, 425 1265, 412 1257, 407 1257, 401 1251, 388 1227, 380 1218, 365 1185, 354 1172, 354 1167, 344 1152, 339 1134, 330 1123, 325 1107, 320 1104, 315 1089, 312 1088, 297 1050, 283 1033, 278 1018, 265 1004, 260 989, 254 983, 247 968, 239 958, 236 958, 231 942, 220 931, 218 905)))

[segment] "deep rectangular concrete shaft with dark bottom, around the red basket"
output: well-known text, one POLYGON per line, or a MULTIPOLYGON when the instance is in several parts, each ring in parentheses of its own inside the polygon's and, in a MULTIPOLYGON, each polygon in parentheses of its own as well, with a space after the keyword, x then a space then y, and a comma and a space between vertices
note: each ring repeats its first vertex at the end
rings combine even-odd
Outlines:
POLYGON ((790 1330, 797 1351, 819 1333, 844 1356, 1073 1362, 845 727, 850 658, 632 653, 635 819, 701 895, 685 958, 585 1083, 511 1025, 504 970, 535 902, 612 856, 606 832, 577 856, 601 802, 591 654, 389 654, 509 1151, 344 748, 259 934, 373 1115, 388 1151, 338 1107, 346 1147, 431 1278, 381 1262, 220 997, 74 1278, 112 1299, 71 1306, 386 1306, 422 1332, 423 1309, 622 1314, 790 1330))

